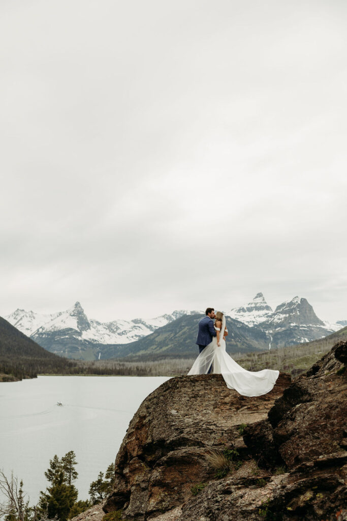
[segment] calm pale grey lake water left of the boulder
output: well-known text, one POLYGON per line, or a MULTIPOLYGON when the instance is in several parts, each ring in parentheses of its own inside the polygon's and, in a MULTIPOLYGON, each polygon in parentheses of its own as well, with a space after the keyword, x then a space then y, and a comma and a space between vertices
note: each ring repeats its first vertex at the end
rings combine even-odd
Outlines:
POLYGON ((30 504, 45 490, 49 460, 74 451, 79 499, 105 472, 140 403, 166 377, 39 376, 0 383, 0 468, 23 479, 30 504), (63 406, 57 406, 57 401, 63 406))

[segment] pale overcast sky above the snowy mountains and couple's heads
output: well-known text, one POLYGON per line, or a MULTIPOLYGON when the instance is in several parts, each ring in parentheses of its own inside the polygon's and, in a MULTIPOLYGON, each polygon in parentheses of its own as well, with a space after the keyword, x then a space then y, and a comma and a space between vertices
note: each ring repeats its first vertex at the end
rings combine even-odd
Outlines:
POLYGON ((3 0, 0 315, 347 319, 344 0, 3 0))

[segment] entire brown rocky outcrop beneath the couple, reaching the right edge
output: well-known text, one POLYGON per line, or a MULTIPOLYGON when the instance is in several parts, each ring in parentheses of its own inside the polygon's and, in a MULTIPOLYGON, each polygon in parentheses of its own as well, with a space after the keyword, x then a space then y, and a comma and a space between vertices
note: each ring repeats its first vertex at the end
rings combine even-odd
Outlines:
POLYGON ((108 518, 347 519, 346 363, 340 342, 258 398, 220 375, 166 381, 128 427, 108 518))

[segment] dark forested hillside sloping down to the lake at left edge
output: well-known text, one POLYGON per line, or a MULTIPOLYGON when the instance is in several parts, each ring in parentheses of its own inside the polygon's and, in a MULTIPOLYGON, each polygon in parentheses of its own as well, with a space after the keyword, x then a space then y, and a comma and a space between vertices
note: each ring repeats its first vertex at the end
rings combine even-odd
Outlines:
POLYGON ((75 362, 49 353, 0 317, 0 381, 35 378, 39 373, 65 373, 75 362))

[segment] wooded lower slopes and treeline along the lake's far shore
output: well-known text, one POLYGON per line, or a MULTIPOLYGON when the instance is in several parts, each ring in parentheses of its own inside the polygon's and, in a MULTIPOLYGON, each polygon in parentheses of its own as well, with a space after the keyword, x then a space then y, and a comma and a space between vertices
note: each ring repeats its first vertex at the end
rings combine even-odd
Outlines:
MULTIPOLYGON (((347 339, 347 327, 329 337, 306 344, 265 352, 231 353, 245 369, 278 369, 293 377, 309 369, 339 340, 347 339)), ((227 344, 227 351, 228 344, 227 344)), ((196 350, 198 355, 198 350, 196 350)), ((80 361, 63 358, 50 353, 26 337, 0 317, 0 381, 35 378, 45 375, 120 375, 120 376, 178 376, 186 375, 194 358, 180 355, 163 358, 141 355, 136 359, 111 359, 80 361)))

